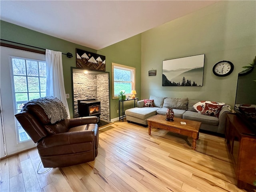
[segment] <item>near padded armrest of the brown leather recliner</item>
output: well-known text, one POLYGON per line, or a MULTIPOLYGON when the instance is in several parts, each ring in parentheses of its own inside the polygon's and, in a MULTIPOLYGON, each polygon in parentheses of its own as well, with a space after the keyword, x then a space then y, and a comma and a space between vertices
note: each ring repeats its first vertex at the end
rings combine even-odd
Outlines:
POLYGON ((86 143, 94 141, 94 131, 84 130, 84 131, 73 131, 52 134, 42 139, 38 142, 37 148, 49 148, 62 145, 86 143))

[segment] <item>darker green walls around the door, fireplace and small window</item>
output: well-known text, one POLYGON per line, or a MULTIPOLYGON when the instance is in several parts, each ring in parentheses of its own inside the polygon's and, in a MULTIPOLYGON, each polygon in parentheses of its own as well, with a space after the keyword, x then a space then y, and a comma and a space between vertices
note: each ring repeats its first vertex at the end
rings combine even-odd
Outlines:
MULTIPOLYGON (((106 56, 106 71, 111 74, 111 62, 116 62, 119 64, 124 64, 128 66, 136 67, 136 87, 140 90, 140 68, 141 68, 141 52, 140 52, 140 35, 134 36, 127 40, 121 41, 114 44, 113 46, 108 46, 97 52, 92 48, 74 44, 60 38, 42 34, 27 28, 23 28, 8 22, 0 21, 0 37, 4 40, 10 40, 14 42, 19 42, 22 44, 28 44, 32 46, 37 46, 41 48, 47 48, 50 50, 61 51, 63 53, 70 52, 73 54, 73 58, 67 58, 66 55, 62 55, 63 64, 63 74, 64 74, 64 84, 66 93, 70 94, 70 98, 67 99, 68 106, 70 110, 70 116, 73 117, 72 108, 72 86, 71 86, 71 69, 70 67, 76 67, 76 48, 86 50, 93 53, 98 53, 106 56), (138 51, 139 50, 139 51, 138 51), (138 84, 138 85, 137 85, 138 84)), ((111 78, 110 78, 111 85, 111 78)), ((110 97, 110 118, 116 118, 118 114, 112 112, 118 108, 118 102, 112 100, 110 97), (112 109, 113 108, 113 109, 112 109)))

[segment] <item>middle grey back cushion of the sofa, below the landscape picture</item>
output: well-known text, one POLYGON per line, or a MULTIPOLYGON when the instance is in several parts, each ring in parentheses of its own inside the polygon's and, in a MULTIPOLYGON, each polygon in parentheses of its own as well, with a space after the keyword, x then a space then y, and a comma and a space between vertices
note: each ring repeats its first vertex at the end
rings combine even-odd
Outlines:
POLYGON ((165 98, 164 99, 164 108, 173 108, 173 109, 188 109, 188 98, 165 98))

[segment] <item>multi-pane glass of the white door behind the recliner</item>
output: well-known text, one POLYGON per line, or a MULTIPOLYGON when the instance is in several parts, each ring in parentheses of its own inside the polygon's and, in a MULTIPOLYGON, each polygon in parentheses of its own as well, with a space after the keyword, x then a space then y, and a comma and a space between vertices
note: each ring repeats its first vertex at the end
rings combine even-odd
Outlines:
MULTIPOLYGON (((28 100, 46 96, 46 62, 11 57, 14 111, 20 112, 28 100)), ((18 141, 30 140, 16 120, 18 141)))

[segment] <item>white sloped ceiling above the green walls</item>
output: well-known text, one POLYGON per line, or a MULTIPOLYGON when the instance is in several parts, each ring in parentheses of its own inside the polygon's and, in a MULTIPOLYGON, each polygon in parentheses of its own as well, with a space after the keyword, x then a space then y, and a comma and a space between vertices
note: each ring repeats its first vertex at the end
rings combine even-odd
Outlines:
POLYGON ((0 19, 99 50, 215 2, 0 0, 0 19))

